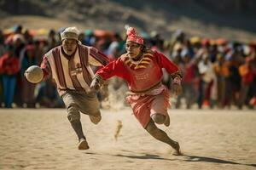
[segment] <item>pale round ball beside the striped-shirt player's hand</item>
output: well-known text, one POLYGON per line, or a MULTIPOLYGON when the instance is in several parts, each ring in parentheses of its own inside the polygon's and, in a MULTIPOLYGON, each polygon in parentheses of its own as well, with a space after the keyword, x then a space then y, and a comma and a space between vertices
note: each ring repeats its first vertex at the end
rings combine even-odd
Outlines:
POLYGON ((25 77, 28 82, 38 83, 44 78, 44 71, 38 65, 32 65, 25 71, 25 77))

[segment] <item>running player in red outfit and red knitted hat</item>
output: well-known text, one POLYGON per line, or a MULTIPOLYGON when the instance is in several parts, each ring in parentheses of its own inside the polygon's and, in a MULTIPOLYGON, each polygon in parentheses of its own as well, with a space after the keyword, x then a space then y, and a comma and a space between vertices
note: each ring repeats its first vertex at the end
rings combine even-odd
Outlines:
POLYGON ((90 88, 92 91, 97 90, 103 81, 113 76, 125 79, 130 89, 127 101, 138 122, 155 139, 171 145, 179 155, 179 144, 169 138, 155 123, 165 124, 166 127, 170 125, 167 113, 170 94, 168 88, 161 83, 162 68, 171 74, 172 88, 176 94, 182 91, 182 76, 177 66, 165 55, 145 48, 143 37, 137 35, 134 28, 128 28, 126 34, 128 36, 125 44, 127 53, 97 71, 90 88))

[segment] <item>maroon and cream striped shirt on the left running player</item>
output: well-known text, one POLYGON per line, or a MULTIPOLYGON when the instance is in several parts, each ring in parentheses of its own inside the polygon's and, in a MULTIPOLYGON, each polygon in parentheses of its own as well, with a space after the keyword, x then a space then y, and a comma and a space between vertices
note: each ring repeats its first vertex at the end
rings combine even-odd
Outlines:
POLYGON ((58 46, 44 54, 41 68, 44 71, 44 77, 52 76, 59 94, 62 95, 66 90, 88 92, 94 77, 90 65, 107 64, 108 58, 96 48, 79 45, 73 56, 68 58, 61 46, 58 46))

